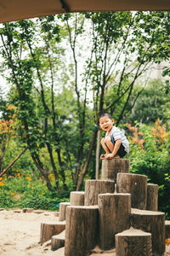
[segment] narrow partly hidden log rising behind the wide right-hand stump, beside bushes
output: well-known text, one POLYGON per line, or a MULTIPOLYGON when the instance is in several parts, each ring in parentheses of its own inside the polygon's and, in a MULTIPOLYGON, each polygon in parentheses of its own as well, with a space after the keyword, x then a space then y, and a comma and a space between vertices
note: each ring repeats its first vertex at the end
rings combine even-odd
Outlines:
POLYGON ((146 210, 158 211, 158 185, 147 184, 147 204, 146 210))

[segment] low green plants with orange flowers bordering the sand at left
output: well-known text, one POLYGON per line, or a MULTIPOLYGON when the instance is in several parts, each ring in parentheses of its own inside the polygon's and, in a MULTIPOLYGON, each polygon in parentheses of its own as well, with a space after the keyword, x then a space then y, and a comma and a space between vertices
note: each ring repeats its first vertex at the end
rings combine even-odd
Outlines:
MULTIPOLYGON (((19 174, 20 172, 18 172, 19 174)), ((59 210, 59 202, 69 201, 69 192, 60 194, 48 191, 41 180, 30 177, 8 177, 0 186, 0 207, 3 208, 34 208, 49 211, 59 210)))

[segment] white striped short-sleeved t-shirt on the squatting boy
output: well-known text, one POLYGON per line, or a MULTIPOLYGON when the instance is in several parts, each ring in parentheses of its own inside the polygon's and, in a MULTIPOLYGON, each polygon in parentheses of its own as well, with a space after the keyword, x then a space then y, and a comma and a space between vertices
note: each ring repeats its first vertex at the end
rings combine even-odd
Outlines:
MULTIPOLYGON (((105 137, 106 136, 108 136, 107 132, 105 133, 105 137)), ((121 142, 125 148, 125 151, 127 152, 127 154, 129 153, 129 143, 127 141, 127 137, 124 135, 124 133, 120 129, 118 129, 116 126, 113 126, 111 128, 109 136, 113 137, 115 141, 118 139, 121 139, 121 142)))

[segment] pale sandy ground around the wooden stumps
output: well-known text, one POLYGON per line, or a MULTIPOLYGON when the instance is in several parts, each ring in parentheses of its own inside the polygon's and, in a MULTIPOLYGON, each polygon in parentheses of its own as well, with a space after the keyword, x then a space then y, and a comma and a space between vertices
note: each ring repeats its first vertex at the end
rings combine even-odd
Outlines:
MULTIPOLYGON (((0 256, 64 256, 65 248, 51 251, 50 245, 39 243, 40 226, 43 221, 57 221, 56 212, 0 211, 0 256)), ((170 246, 165 256, 170 256, 170 246)), ((91 256, 115 256, 115 250, 94 250, 91 256)), ((76 256, 76 255, 75 255, 76 256)))

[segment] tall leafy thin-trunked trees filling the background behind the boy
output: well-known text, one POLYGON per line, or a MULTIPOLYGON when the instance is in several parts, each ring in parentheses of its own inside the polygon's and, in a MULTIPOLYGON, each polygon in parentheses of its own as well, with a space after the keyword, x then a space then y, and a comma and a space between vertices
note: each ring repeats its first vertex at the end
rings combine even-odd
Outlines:
POLYGON ((167 12, 49 16, 4 24, 0 35, 17 139, 49 190, 78 190, 94 177, 100 112, 116 125, 167 120, 168 83, 145 82, 169 58, 167 12))

